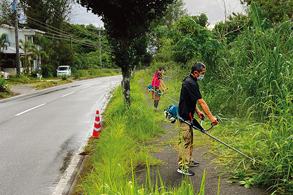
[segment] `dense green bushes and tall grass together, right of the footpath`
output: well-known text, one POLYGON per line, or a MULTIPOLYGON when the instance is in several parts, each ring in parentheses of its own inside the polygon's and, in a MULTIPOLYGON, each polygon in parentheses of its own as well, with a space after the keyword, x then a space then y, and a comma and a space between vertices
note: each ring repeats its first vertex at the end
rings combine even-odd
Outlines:
POLYGON ((217 135, 255 161, 241 157, 235 160, 235 155, 231 156, 217 144, 220 156, 232 157, 227 164, 235 165, 235 178, 246 178, 240 184, 275 185, 290 194, 293 191, 293 24, 287 17, 286 21, 269 26, 270 21, 261 8, 251 5, 250 21, 234 15, 230 23, 216 25, 229 32, 233 31, 234 20, 243 24, 226 36, 220 36, 220 30, 214 29, 218 39, 188 16, 180 18, 174 30, 158 27, 163 44, 153 65, 158 68, 164 63, 170 70, 167 74, 179 79, 168 90, 172 99, 178 100, 180 80, 189 74, 192 62, 203 61, 208 67, 205 79, 200 82, 204 100, 212 113, 229 125, 217 135), (210 47, 204 47, 205 41, 214 46, 209 50, 210 47), (215 63, 208 61, 206 54, 212 55, 215 63), (178 76, 180 72, 182 76, 178 76))

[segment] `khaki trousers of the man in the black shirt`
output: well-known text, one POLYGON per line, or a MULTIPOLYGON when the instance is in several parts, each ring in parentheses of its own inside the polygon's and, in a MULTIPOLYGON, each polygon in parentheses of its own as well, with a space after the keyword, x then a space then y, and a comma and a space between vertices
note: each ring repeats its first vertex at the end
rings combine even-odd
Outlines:
POLYGON ((178 165, 180 168, 188 168, 188 164, 192 161, 192 150, 193 150, 193 129, 186 123, 180 122, 180 132, 179 132, 179 155, 178 155, 178 165), (182 142, 183 141, 183 142, 182 142), (183 143, 183 144, 182 144, 183 143), (182 159, 183 154, 183 159, 182 159), (185 167, 182 165, 185 164, 185 167))

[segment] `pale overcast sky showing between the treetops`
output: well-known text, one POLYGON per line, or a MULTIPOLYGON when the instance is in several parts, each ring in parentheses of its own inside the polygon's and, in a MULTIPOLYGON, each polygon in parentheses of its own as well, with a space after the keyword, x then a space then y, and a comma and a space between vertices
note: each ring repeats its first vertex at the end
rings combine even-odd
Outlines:
MULTIPOLYGON (((242 12, 242 7, 239 0, 183 0, 188 9, 188 13, 191 15, 199 15, 201 13, 206 13, 213 27, 217 22, 224 19, 224 3, 226 6, 227 13, 229 12, 242 12)), ((103 26, 103 22, 91 12, 86 12, 86 9, 77 5, 77 10, 79 10, 75 19, 72 21, 75 24, 93 24, 96 27, 99 25, 103 26)))

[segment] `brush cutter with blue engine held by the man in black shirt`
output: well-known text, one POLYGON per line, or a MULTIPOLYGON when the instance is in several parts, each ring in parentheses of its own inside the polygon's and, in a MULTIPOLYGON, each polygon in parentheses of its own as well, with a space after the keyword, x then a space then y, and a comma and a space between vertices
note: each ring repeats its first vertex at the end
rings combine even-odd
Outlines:
MULTIPOLYGON (((243 156, 249 158, 250 160, 253 160, 252 158, 248 157, 247 155, 241 153, 240 151, 237 151, 236 149, 234 149, 233 147, 231 147, 227 143, 224 143, 223 141, 221 141, 221 140, 217 139, 216 137, 214 137, 214 136, 210 135, 209 133, 207 133, 206 131, 210 130, 214 126, 213 124, 211 124, 212 126, 206 130, 206 129, 204 129, 202 127, 202 125, 200 125, 200 123, 197 120, 193 119, 192 122, 185 121, 183 118, 181 118, 179 116, 178 113, 179 113, 179 108, 177 106, 175 106, 175 105, 171 105, 168 109, 165 110, 166 119, 170 120, 171 123, 175 123, 175 121, 178 119, 178 120, 186 123, 187 125, 191 126, 192 128, 197 129, 197 130, 201 131, 202 133, 205 133, 206 135, 208 135, 208 136, 212 137, 213 139, 219 141, 220 143, 226 145, 226 147, 232 149, 233 151, 239 153, 240 155, 243 155, 243 156)), ((202 118, 202 123, 201 124, 203 124, 203 120, 204 120, 204 117, 202 118)))

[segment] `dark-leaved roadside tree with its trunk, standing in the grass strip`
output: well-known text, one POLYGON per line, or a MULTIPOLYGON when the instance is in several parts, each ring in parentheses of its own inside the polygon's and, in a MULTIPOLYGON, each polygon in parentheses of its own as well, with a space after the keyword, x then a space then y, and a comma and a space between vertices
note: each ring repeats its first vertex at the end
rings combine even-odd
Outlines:
POLYGON ((123 100, 130 105, 130 67, 137 53, 134 43, 145 35, 150 23, 162 17, 174 0, 78 0, 93 14, 102 17, 112 38, 116 65, 122 68, 123 100))

